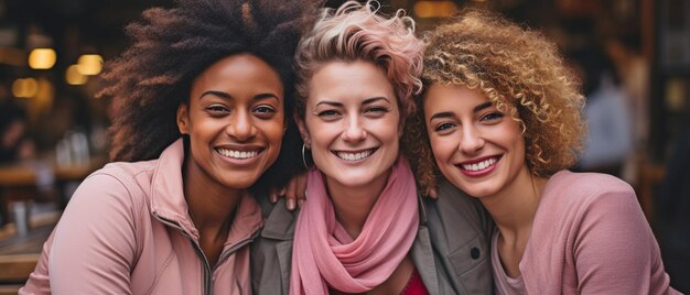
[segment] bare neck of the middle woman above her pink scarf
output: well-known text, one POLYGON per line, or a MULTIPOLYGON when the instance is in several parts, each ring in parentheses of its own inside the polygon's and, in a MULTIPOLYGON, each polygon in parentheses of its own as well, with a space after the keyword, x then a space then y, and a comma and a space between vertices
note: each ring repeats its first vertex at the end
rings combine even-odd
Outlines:
POLYGON ((353 239, 359 237, 369 212, 386 187, 389 175, 390 172, 360 186, 345 186, 326 177, 335 218, 353 239))

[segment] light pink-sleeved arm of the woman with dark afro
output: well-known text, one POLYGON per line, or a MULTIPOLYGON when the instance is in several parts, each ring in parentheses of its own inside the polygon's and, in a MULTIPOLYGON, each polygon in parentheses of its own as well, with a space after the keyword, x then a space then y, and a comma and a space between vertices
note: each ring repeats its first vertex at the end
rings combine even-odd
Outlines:
POLYGON ((55 229, 48 258, 53 294, 130 294, 139 210, 110 175, 88 177, 55 229))

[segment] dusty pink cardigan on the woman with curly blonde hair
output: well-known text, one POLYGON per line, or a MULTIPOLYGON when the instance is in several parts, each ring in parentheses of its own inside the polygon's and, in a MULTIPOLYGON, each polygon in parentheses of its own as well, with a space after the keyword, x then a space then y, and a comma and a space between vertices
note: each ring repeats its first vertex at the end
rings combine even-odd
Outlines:
POLYGON ((604 174, 549 179, 519 267, 527 294, 679 294, 635 192, 604 174))

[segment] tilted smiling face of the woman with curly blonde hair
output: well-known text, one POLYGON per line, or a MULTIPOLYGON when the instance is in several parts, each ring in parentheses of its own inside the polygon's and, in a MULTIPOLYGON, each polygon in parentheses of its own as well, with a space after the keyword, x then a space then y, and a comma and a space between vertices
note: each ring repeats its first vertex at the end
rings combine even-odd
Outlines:
POLYGON ((518 179, 529 179, 518 122, 478 90, 432 85, 424 119, 441 173, 471 196, 503 194, 518 179))

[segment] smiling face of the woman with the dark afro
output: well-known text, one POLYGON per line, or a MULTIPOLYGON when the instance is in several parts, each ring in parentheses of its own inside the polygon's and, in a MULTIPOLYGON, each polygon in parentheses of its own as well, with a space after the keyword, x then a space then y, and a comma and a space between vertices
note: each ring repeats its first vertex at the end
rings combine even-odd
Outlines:
POLYGON ((284 132, 283 87, 277 72, 249 54, 231 55, 193 83, 177 109, 190 136, 186 177, 244 189, 278 157, 284 132))

